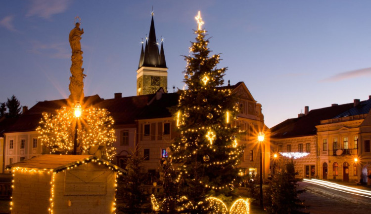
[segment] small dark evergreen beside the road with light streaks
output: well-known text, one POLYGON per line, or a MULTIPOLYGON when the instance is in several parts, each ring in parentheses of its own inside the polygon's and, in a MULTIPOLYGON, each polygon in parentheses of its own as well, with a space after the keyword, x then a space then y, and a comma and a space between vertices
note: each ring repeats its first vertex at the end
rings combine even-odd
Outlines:
POLYGON ((303 213, 300 212, 300 209, 305 208, 304 201, 299 199, 299 194, 305 192, 305 190, 298 189, 298 181, 302 179, 296 178, 297 175, 298 172, 295 172, 293 161, 288 162, 283 169, 275 172, 266 192, 266 210, 269 213, 303 213))

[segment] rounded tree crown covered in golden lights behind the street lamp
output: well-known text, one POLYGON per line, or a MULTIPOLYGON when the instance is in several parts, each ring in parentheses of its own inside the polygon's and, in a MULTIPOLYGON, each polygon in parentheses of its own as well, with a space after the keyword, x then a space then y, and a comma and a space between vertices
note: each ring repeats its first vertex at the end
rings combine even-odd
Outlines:
POLYGON ((62 107, 56 110, 56 114, 44 112, 36 130, 50 154, 72 154, 77 125, 78 153, 112 160, 116 154, 112 146, 116 141, 113 123, 113 118, 104 108, 83 109, 81 118, 77 119, 72 108, 62 107))

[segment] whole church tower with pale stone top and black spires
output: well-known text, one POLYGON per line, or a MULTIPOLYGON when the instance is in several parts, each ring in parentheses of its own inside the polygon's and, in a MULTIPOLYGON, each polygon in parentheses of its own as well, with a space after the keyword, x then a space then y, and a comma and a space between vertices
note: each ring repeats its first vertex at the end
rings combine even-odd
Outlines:
POLYGON ((153 13, 149 36, 142 42, 139 66, 137 70, 137 95, 153 94, 162 87, 167 92, 168 68, 166 67, 164 44, 161 39, 161 49, 154 29, 153 13), (143 43, 145 42, 145 48, 143 43))

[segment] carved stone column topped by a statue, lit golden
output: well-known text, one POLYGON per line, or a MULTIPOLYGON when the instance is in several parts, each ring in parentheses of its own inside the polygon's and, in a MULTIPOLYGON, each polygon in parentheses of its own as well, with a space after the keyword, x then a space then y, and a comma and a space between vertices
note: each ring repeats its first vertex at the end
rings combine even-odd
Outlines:
POLYGON ((70 76, 70 85, 68 86, 71 94, 69 99, 72 102, 72 105, 75 105, 77 102, 82 103, 84 99, 84 82, 83 79, 86 76, 82 68, 83 66, 83 52, 81 51, 81 44, 80 39, 81 35, 84 34, 84 29, 80 30, 80 23, 76 22, 76 26, 70 32, 70 36, 68 38, 71 49, 72 49, 72 56, 71 56, 71 74, 70 76))

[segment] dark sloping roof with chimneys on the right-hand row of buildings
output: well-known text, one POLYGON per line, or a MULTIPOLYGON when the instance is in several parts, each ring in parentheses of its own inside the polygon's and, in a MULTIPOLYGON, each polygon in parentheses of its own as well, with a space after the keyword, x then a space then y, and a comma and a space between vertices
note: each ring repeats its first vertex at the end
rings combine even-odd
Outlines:
POLYGON ((271 128, 272 139, 316 135, 321 120, 331 119, 353 107, 353 103, 313 109, 307 115, 287 119, 271 128))

